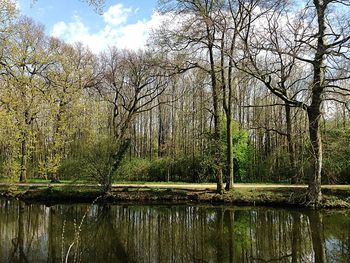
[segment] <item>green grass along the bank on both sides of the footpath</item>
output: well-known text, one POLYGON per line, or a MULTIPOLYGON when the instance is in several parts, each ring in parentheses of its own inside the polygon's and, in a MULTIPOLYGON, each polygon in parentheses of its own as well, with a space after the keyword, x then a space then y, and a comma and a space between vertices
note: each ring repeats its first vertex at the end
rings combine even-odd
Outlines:
MULTIPOLYGON (((4 178, 0 182, 9 183, 4 178)), ((198 203, 223 203, 243 205, 269 206, 306 206, 306 188, 296 187, 268 187, 268 184, 246 184, 246 188, 235 188, 223 195, 215 193, 214 188, 206 188, 207 184, 197 184, 198 188, 179 189, 176 185, 186 185, 184 182, 114 182, 122 185, 113 188, 108 202, 116 201, 185 201, 198 203), (143 185, 150 185, 143 187, 143 185), (125 185, 125 186, 124 186, 125 185), (138 186, 140 187, 138 187, 138 186), (163 185, 163 186, 157 186, 163 185), (167 186, 169 185, 169 186, 167 186), (174 187, 170 186, 174 185, 174 187), (262 185, 266 187, 255 187, 262 185), (201 187, 202 186, 202 187, 201 187), (204 186, 204 187, 203 187, 204 186)), ((193 185, 193 184, 192 184, 193 185)), ((284 184, 280 184, 281 186, 284 184)), ((28 185, 3 184, 0 185, 0 196, 15 197, 23 200, 38 201, 90 201, 101 195, 101 187, 84 181, 62 180, 60 184, 50 184, 45 179, 29 179, 28 185)), ((324 208, 350 208, 350 185, 323 188, 324 208)))

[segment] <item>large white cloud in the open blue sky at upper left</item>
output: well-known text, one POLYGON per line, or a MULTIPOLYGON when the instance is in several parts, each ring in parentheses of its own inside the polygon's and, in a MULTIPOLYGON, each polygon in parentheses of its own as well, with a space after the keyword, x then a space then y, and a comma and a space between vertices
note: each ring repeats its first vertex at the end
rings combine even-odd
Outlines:
POLYGON ((124 8, 121 4, 111 6, 103 15, 105 22, 103 28, 96 33, 91 33, 80 17, 75 15, 72 22, 56 23, 51 30, 51 35, 69 43, 80 41, 95 53, 103 51, 108 46, 116 46, 120 49, 142 49, 146 45, 151 30, 159 27, 164 17, 155 12, 147 20, 127 24, 129 14, 132 15, 135 12, 137 10, 124 8))

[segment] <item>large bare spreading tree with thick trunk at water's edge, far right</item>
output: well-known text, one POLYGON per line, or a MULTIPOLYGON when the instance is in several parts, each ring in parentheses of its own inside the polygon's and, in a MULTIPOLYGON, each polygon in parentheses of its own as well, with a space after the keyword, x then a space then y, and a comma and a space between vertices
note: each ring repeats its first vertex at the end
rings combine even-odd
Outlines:
MULTIPOLYGON (((268 27, 265 30, 259 32, 260 29, 255 24, 255 27, 254 25, 249 27, 241 38, 244 42, 246 56, 242 59, 243 63, 240 68, 263 82, 286 105, 299 107, 307 112, 312 158, 312 173, 309 176, 307 199, 310 204, 315 206, 322 199, 320 121, 326 93, 349 92, 347 88, 340 86, 341 80, 350 77, 348 72, 339 75, 340 66, 349 63, 350 35, 348 27, 343 26, 349 21, 347 17, 343 17, 345 21, 337 23, 339 21, 335 19, 335 13, 331 11, 331 6, 333 6, 333 10, 340 8, 340 6, 346 9, 348 4, 348 1, 314 0, 312 11, 306 5, 300 11, 299 16, 295 16, 295 13, 289 13, 285 7, 275 9, 273 12, 267 13, 265 21, 268 27), (278 28, 275 26, 277 19, 287 20, 286 26, 282 30, 277 31, 278 28), (268 37, 266 38, 266 36, 268 37), (263 44, 259 44, 260 41, 263 44), (280 44, 276 41, 280 41, 280 44), (286 87, 283 86, 285 83, 283 78, 282 81, 277 82, 273 77, 274 73, 264 70, 259 64, 261 54, 265 54, 263 57, 267 59, 270 58, 269 55, 279 56, 280 65, 283 67, 276 71, 280 74, 284 73, 284 77, 287 76, 286 70, 294 64, 294 62, 291 64, 289 61, 294 61, 294 59, 303 64, 305 69, 309 68, 310 78, 299 78, 297 81, 305 80, 305 85, 309 86, 307 90, 310 97, 301 96, 300 91, 294 96, 288 96, 286 87)), ((258 21, 258 23, 262 23, 262 21, 258 21)))

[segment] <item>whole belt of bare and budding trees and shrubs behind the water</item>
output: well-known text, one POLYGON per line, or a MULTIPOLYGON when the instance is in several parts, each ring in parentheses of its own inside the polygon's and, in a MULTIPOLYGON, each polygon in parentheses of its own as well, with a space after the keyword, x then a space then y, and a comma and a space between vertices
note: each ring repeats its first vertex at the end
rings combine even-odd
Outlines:
POLYGON ((350 182, 349 6, 163 0, 145 49, 93 54, 0 0, 0 175, 308 183, 317 203, 350 182))

